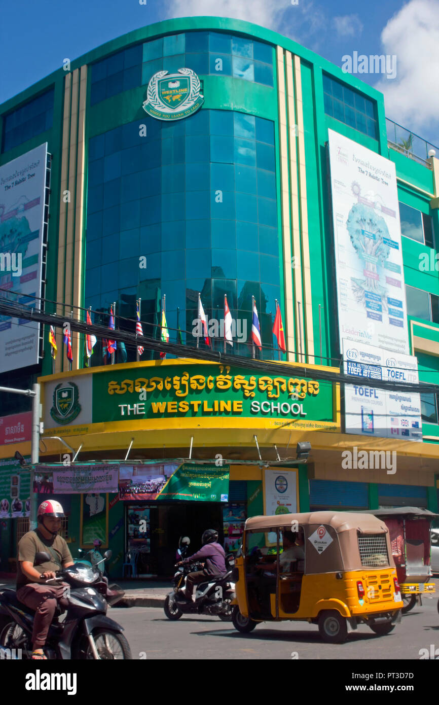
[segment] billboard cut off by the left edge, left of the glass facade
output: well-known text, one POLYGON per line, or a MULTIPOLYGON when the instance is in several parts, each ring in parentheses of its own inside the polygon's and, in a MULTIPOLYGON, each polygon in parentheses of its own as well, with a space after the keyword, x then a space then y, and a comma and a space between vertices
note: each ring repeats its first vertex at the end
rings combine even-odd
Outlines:
MULTIPOLYGON (((47 142, 0 166, 1 295, 26 305, 41 295, 46 165, 47 142)), ((38 341, 39 324, 0 316, 0 373, 36 364, 38 341)))

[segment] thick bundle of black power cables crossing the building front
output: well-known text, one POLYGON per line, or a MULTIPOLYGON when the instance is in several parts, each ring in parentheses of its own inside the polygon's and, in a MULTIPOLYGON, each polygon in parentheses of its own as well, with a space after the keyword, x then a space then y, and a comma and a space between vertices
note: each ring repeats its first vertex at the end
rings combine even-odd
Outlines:
MULTIPOLYGON (((54 328, 63 328, 67 323, 70 330, 84 335, 92 334, 97 338, 109 338, 110 330, 107 326, 97 324, 87 325, 84 321, 78 321, 68 316, 58 316, 58 314, 49 314, 39 309, 28 307, 24 304, 11 302, 0 297, 0 314, 37 321, 38 323, 54 326, 54 328)), ((132 321, 133 329, 135 321, 132 321)), ((386 381, 383 379, 371 379, 369 377, 357 377, 350 374, 335 374, 324 369, 310 369, 303 367, 300 364, 291 364, 289 362, 276 362, 267 360, 254 360, 251 357, 242 357, 240 355, 224 355, 219 350, 202 350, 201 348, 192 348, 189 345, 180 345, 179 343, 163 343, 155 338, 148 336, 139 336, 136 333, 128 331, 111 330, 111 339, 121 341, 131 345, 142 345, 144 348, 153 350, 156 353, 167 353, 175 355, 175 357, 191 357, 194 360, 202 362, 218 362, 230 367, 246 367, 254 370, 254 372, 266 374, 278 374, 279 376, 304 377, 306 379, 316 379, 330 383, 338 382, 345 384, 354 384, 356 386, 367 386, 373 388, 387 389, 399 393, 439 393, 438 384, 405 384, 397 381, 386 381)))

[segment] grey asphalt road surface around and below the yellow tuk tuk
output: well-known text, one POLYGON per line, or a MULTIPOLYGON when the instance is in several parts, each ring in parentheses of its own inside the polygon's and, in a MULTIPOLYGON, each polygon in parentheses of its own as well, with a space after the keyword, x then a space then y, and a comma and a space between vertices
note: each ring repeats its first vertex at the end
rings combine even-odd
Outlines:
MULTIPOLYGON (((436 581, 437 583, 437 581, 436 581)), ((184 616, 171 622, 160 608, 112 608, 109 616, 125 629, 132 658, 204 659, 407 659, 419 660, 420 650, 438 649, 438 591, 423 597, 422 606, 403 615, 402 623, 385 637, 360 625, 345 644, 325 644, 318 627, 306 622, 261 623, 249 635, 215 617, 184 616)), ((421 652, 422 654, 422 652, 421 652)))

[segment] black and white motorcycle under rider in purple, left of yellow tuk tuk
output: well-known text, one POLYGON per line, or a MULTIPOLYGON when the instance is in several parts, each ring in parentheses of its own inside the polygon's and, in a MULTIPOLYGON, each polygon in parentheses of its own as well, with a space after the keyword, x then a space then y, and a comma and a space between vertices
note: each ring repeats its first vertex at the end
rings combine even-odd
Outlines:
POLYGON ((206 576, 206 582, 197 585, 193 602, 180 596, 179 590, 185 587, 186 576, 190 572, 202 570, 202 563, 187 565, 176 563, 173 590, 166 596, 163 606, 166 617, 170 620, 178 620, 184 614, 217 615, 223 622, 230 622, 233 611, 231 602, 235 599, 235 583, 230 582, 234 564, 233 554, 229 553, 225 556, 228 572, 220 576, 206 576))

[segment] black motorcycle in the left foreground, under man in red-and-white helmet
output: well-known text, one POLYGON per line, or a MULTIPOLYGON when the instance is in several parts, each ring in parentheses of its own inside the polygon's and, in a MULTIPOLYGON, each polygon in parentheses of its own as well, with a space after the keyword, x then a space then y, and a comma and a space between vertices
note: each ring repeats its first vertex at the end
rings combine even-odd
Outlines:
MULTIPOLYGON (((104 553, 111 558, 111 551, 104 553)), ((35 565, 50 560, 48 553, 39 552, 35 565)), ((49 627, 44 653, 48 659, 113 660, 132 658, 123 627, 106 616, 107 607, 123 596, 117 586, 109 588, 101 572, 88 565, 75 563, 58 570, 46 584, 66 582, 64 598, 67 608, 59 604, 49 627), (61 615, 65 613, 63 620, 61 615)), ((0 646, 21 649, 23 658, 32 656, 32 627, 35 612, 18 601, 15 590, 0 594, 0 646)))

